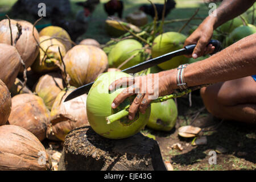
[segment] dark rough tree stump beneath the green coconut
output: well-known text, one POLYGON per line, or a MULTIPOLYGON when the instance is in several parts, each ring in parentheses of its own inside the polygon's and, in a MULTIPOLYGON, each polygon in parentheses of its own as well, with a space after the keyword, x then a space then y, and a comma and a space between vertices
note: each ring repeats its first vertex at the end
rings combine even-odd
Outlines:
POLYGON ((166 171, 158 142, 141 133, 107 139, 90 126, 72 130, 65 138, 59 170, 166 171))

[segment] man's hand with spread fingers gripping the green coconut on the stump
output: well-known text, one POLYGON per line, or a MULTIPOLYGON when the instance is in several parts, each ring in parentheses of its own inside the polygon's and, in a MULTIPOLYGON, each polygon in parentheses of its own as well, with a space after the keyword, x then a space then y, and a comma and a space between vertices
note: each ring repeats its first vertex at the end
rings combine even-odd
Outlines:
POLYGON ((123 77, 110 84, 109 90, 113 91, 123 84, 127 84, 128 87, 114 99, 112 108, 117 108, 127 97, 137 94, 129 108, 129 119, 133 120, 138 110, 144 114, 152 100, 171 94, 177 88, 176 70, 140 77, 123 77))

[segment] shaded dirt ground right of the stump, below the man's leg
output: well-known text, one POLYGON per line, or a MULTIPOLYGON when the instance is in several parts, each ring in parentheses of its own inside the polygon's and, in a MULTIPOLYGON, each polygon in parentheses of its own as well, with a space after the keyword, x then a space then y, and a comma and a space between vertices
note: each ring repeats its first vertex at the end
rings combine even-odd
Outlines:
POLYGON ((178 98, 179 116, 176 126, 170 132, 145 129, 143 133, 155 136, 163 160, 171 162, 174 170, 255 170, 256 133, 255 126, 235 121, 222 121, 212 117, 204 108, 199 94, 192 94, 192 107, 188 97, 178 98), (195 119, 194 119, 195 118, 195 119), (177 129, 190 125, 201 127, 200 135, 207 137, 207 144, 192 146, 194 138, 182 138, 177 129), (209 131, 210 130, 210 131, 209 131), (172 149, 180 143, 183 150, 172 149), (217 164, 209 164, 210 151, 217 151, 217 164))

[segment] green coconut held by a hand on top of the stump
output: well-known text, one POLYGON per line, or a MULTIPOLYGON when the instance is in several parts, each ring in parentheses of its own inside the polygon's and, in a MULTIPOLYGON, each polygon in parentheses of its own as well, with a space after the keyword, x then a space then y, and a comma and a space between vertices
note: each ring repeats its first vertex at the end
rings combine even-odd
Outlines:
POLYGON ((96 79, 88 93, 86 101, 88 121, 92 129, 105 138, 121 139, 130 137, 141 131, 150 117, 150 107, 148 107, 145 114, 137 113, 133 121, 123 117, 118 121, 107 123, 106 117, 124 109, 126 105, 131 104, 134 98, 129 97, 117 109, 112 109, 111 105, 114 98, 125 88, 117 89, 112 93, 109 93, 108 88, 113 81, 122 77, 130 77, 130 75, 123 72, 103 73, 96 79))

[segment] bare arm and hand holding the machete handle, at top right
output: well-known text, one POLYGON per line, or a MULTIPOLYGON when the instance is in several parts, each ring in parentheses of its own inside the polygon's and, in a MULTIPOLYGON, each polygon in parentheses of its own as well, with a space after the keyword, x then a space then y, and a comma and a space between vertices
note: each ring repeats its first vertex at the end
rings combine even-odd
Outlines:
MULTIPOLYGON (((212 52, 214 50, 212 45, 209 45, 207 48, 205 47, 212 38, 213 30, 228 20, 244 13, 253 6, 254 2, 255 0, 224 0, 216 9, 217 16, 208 16, 205 18, 199 27, 185 40, 184 46, 197 44, 192 57, 196 59, 212 52)), ((188 56, 191 57, 191 55, 188 56)))

